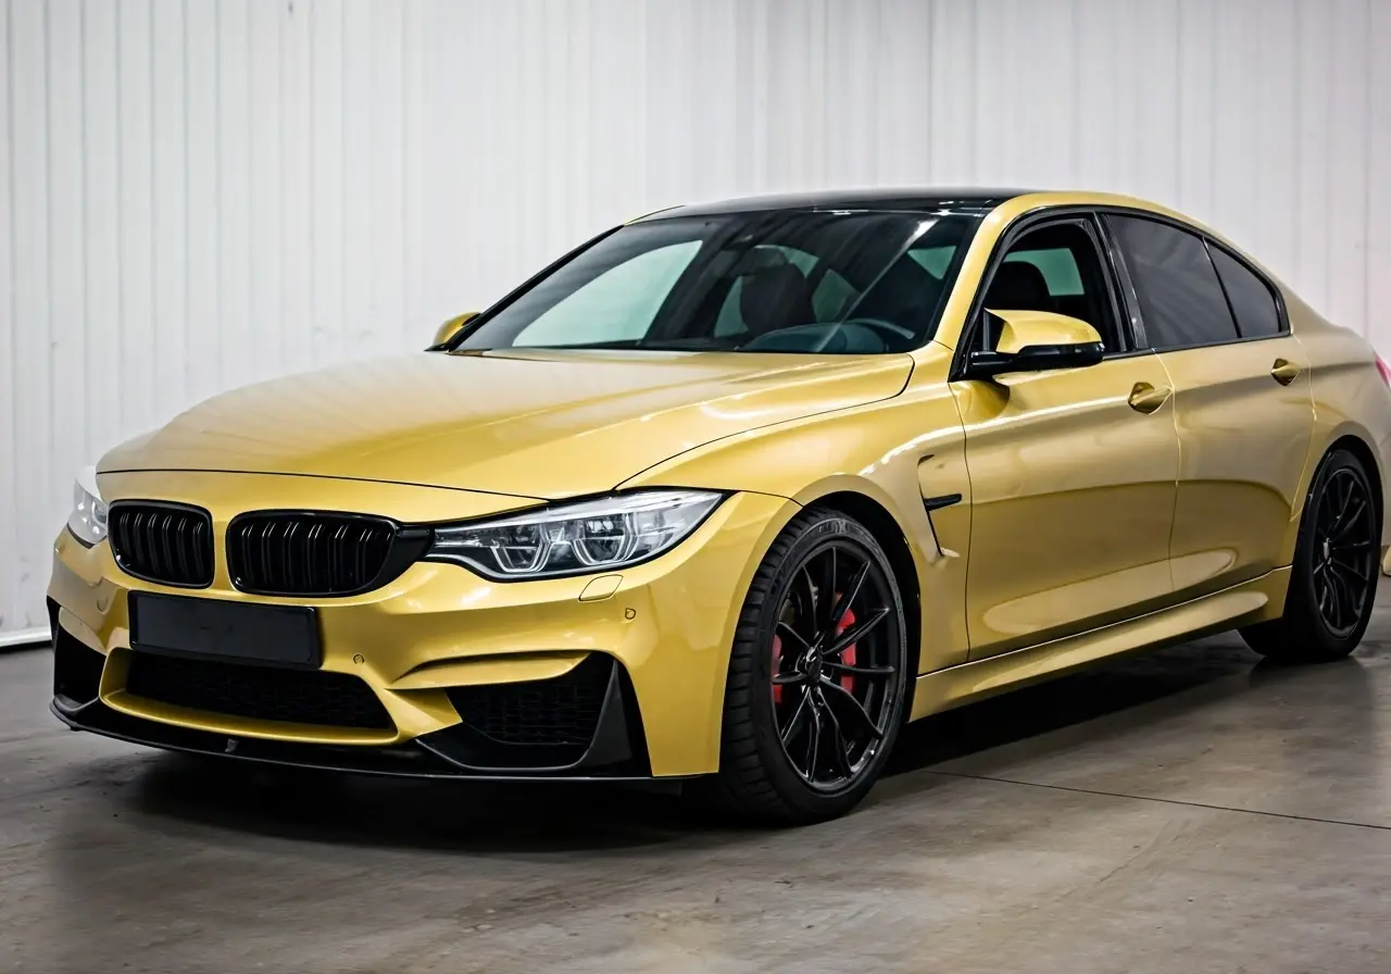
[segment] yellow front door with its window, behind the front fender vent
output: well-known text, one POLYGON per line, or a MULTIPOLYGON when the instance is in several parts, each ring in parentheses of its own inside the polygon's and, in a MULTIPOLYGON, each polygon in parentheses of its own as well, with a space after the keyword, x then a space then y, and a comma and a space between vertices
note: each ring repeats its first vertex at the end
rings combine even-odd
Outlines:
POLYGON ((995 348, 995 308, 1082 319, 1107 353, 1084 369, 953 383, 971 477, 972 660, 1142 614, 1173 591, 1171 384, 1123 326, 1099 225, 1034 217, 999 255, 964 348, 995 348))

